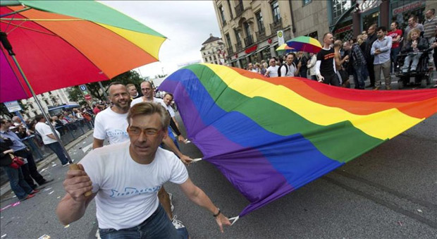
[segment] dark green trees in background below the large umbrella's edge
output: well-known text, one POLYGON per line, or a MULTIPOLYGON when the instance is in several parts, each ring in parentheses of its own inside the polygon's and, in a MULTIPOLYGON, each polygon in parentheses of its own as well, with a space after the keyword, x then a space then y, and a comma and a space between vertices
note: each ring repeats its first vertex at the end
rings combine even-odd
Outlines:
MULTIPOLYGON (((140 90, 140 84, 144 80, 140 77, 140 74, 136 71, 126 71, 125 73, 121 73, 120 75, 117 75, 116 77, 112 78, 111 80, 105 80, 101 81, 101 85, 104 87, 104 90, 107 90, 109 84, 111 82, 121 82, 123 85, 128 84, 134 84, 137 87, 137 90, 140 90)), ((86 84, 88 91, 90 92, 91 96, 94 99, 98 100, 106 100, 104 97, 103 92, 101 91, 101 87, 99 85, 99 82, 92 82, 86 84)), ((68 90, 69 99, 79 102, 84 100, 82 91, 79 89, 78 86, 71 87, 70 90, 68 90)))

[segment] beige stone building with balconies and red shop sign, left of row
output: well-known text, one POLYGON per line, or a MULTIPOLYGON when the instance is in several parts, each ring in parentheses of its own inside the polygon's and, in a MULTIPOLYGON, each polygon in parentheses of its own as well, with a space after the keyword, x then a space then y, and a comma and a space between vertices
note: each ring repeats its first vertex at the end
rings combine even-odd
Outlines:
POLYGON ((276 56, 278 31, 293 38, 291 1, 214 1, 230 66, 245 68, 276 56))

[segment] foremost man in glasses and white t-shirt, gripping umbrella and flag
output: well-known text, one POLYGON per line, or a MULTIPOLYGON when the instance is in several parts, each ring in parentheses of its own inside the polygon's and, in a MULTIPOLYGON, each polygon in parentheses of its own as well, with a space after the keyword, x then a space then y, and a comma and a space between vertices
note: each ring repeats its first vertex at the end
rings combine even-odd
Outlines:
MULTIPOLYGON (((159 204, 158 191, 170 181, 216 219, 220 230, 230 221, 188 177, 183 163, 159 148, 167 137, 169 115, 158 104, 133 106, 128 113, 129 142, 108 145, 87 154, 78 170, 69 170, 63 185, 66 196, 56 208, 64 224, 77 221, 96 198, 101 238, 180 238, 159 204), (90 197, 85 192, 92 190, 90 197)), ((181 233, 181 234, 179 234, 181 233)))

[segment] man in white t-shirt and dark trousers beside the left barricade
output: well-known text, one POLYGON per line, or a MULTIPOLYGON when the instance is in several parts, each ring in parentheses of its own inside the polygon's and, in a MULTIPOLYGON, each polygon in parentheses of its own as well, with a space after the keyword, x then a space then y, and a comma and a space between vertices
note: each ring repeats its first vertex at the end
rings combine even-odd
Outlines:
MULTIPOLYGON (((37 130, 39 135, 41 135, 44 145, 49 147, 49 149, 58 156, 59 160, 61 160, 62 166, 66 166, 68 164, 68 158, 66 157, 66 154, 64 154, 61 144, 56 140, 50 126, 46 124, 46 118, 44 118, 42 114, 39 114, 35 116, 35 121, 37 121, 35 130, 37 130)), ((58 137, 61 137, 58 130, 56 130, 56 134, 58 134, 58 137)))

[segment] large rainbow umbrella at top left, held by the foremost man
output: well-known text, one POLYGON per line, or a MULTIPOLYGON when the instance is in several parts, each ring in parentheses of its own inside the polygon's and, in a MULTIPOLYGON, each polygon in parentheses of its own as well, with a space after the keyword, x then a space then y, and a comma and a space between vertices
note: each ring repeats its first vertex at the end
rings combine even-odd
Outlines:
POLYGON ((0 102, 33 96, 49 121, 36 94, 158 61, 166 37, 97 1, 13 0, 0 2, 0 39, 0 102))

